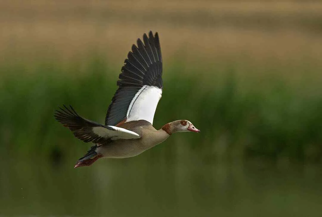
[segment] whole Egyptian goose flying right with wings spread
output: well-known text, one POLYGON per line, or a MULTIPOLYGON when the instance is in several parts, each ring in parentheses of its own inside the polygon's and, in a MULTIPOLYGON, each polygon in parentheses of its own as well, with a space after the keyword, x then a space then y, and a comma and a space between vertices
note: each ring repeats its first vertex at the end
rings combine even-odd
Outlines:
POLYGON ((119 74, 118 90, 107 110, 105 125, 79 116, 70 106, 55 110, 54 117, 74 136, 95 145, 75 168, 90 166, 101 157, 136 156, 176 132, 200 132, 188 120, 176 120, 156 130, 153 117, 162 94, 162 56, 158 33, 143 35, 132 45, 119 74), (144 43, 143 43, 144 42, 144 43))

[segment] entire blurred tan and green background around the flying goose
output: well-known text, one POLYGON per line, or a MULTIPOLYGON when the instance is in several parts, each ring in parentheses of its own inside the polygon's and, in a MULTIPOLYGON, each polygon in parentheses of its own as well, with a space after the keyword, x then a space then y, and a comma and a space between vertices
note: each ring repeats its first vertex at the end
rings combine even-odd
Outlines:
POLYGON ((142 216, 142 201, 146 216, 321 213, 321 3, 5 0, 0 31, 0 216, 142 216), (201 134, 75 172, 89 145, 54 109, 103 123, 149 30, 164 62, 154 126, 201 134))

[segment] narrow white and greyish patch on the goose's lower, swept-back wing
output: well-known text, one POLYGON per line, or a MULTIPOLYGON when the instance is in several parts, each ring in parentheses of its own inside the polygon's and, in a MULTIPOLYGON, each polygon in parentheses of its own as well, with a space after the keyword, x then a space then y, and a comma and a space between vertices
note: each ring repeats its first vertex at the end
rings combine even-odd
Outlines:
POLYGON ((117 126, 108 126, 108 127, 113 128, 113 130, 107 129, 102 126, 94 126, 92 130, 94 134, 100 137, 111 138, 111 140, 138 139, 141 137, 137 133, 121 127, 117 127, 117 126))

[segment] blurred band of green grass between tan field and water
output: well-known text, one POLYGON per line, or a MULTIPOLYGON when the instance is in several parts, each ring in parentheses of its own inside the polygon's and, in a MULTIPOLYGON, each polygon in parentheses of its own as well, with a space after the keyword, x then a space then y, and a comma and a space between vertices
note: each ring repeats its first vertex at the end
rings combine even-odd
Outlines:
MULTIPOLYGON (((53 111, 71 104, 81 116, 104 122, 118 72, 100 56, 87 61, 67 66, 41 61, 33 73, 24 64, 0 66, 5 72, 0 82, 3 157, 75 161, 83 155, 89 145, 56 122, 53 111)), ((257 72, 266 74, 264 78, 242 79, 238 67, 230 64, 219 71, 215 66, 188 68, 182 61, 167 65, 154 126, 189 119, 201 134, 174 135, 146 156, 178 159, 187 153, 206 162, 257 157, 321 161, 322 96, 304 91, 312 83, 290 85, 285 77, 267 72, 257 72)), ((282 70, 303 74, 304 69, 282 70)))

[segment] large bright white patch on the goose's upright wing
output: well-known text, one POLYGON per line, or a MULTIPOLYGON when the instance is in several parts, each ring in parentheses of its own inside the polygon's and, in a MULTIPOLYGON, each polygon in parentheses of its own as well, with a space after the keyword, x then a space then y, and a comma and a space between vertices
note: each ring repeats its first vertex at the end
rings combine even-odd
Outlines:
POLYGON ((161 99, 162 89, 144 85, 132 99, 127 113, 127 120, 146 120, 153 124, 156 106, 161 99))

